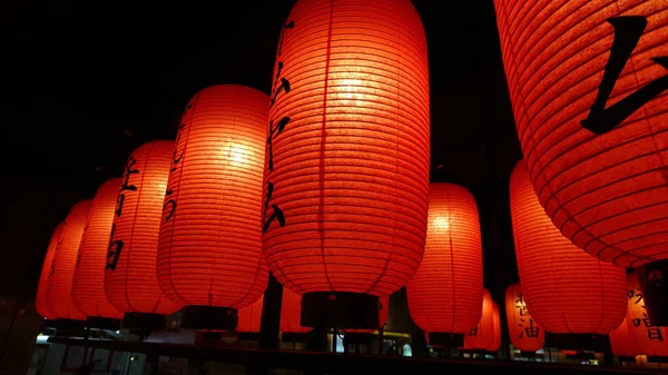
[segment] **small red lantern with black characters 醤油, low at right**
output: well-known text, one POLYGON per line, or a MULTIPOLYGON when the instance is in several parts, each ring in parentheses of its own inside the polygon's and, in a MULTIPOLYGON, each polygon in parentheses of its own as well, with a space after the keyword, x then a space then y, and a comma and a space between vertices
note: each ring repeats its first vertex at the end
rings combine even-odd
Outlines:
POLYGON ((505 289, 505 316, 510 343, 520 352, 537 352, 546 344, 546 330, 533 322, 520 283, 505 289))

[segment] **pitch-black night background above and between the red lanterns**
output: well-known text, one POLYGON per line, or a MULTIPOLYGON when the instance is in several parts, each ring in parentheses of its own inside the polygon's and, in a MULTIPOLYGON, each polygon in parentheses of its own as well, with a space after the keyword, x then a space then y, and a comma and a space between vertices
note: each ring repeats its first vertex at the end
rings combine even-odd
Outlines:
MULTIPOLYGON (((294 0, 14 1, 4 28, 0 294, 33 295, 53 228, 139 145, 174 139, 198 90, 269 91, 294 0), (129 8, 128 8, 129 7, 129 8)), ((426 30, 432 180, 477 198, 485 286, 517 280, 508 179, 520 159, 488 1, 413 0, 426 30)))

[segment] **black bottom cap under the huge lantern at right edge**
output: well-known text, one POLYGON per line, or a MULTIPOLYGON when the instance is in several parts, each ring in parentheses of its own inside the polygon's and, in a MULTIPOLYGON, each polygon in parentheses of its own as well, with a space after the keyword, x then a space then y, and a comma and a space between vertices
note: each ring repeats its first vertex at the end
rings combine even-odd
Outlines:
POLYGON ((652 326, 668 326, 668 259, 636 268, 647 316, 652 326))

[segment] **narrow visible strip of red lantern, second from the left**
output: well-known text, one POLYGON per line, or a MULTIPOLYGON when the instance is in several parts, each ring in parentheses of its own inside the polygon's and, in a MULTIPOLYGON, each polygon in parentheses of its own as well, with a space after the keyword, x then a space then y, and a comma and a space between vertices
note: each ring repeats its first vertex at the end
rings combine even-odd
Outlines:
POLYGON ((53 251, 45 299, 49 313, 59 319, 86 319, 86 315, 72 303, 72 278, 90 201, 85 199, 72 206, 53 251))

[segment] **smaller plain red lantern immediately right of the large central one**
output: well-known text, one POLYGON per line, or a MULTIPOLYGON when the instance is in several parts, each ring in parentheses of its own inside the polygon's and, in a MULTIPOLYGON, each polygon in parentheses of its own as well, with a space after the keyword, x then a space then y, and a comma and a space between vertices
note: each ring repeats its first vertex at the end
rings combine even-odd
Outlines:
POLYGON ((480 320, 480 221, 475 199, 463 187, 431 184, 424 259, 406 290, 411 316, 424 332, 463 334, 480 320))

